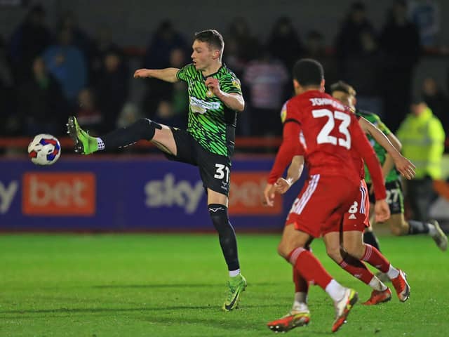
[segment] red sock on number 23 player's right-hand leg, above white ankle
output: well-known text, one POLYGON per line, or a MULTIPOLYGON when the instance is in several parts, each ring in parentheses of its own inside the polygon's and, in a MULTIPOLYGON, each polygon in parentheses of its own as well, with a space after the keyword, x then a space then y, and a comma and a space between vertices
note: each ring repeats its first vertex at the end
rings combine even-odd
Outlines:
POLYGON ((288 254, 288 260, 307 282, 314 282, 321 286, 323 290, 326 290, 326 286, 332 281, 332 277, 326 272, 320 261, 302 247, 293 249, 288 254))

